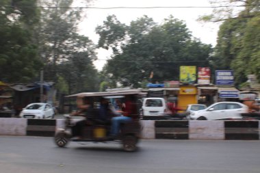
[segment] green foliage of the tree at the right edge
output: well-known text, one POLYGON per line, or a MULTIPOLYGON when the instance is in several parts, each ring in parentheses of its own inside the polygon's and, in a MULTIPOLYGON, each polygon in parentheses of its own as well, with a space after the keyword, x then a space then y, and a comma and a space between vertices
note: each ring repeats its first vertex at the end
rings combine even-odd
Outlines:
POLYGON ((234 70, 237 85, 246 82, 247 75, 256 75, 260 81, 259 5, 259 1, 245 1, 244 10, 226 19, 218 32, 212 64, 219 70, 234 70))

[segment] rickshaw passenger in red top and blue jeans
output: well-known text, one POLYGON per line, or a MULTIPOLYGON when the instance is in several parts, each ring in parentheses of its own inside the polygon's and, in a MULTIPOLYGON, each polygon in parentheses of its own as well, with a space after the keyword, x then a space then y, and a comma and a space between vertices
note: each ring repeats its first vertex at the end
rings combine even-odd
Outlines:
POLYGON ((112 127, 110 131, 110 137, 116 137, 120 131, 120 124, 131 122, 130 117, 135 112, 134 97, 126 96, 125 109, 122 109, 122 116, 116 116, 112 118, 112 127))

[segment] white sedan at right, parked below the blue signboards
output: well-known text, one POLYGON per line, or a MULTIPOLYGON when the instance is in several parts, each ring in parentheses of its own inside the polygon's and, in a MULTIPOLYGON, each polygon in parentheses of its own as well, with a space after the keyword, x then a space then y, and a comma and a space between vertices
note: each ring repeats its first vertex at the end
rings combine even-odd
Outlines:
POLYGON ((218 102, 206 109, 192 112, 189 120, 232 120, 241 119, 242 114, 248 113, 248 106, 239 102, 218 102))

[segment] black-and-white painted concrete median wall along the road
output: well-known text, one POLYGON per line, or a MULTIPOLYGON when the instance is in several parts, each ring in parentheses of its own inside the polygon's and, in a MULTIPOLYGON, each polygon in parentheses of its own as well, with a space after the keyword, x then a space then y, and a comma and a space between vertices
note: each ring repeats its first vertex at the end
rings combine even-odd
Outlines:
MULTIPOLYGON (((77 121, 77 120, 75 120, 77 121)), ((259 121, 142 120, 143 139, 259 140, 259 121)), ((64 119, 0 118, 0 135, 48 136, 64 128, 64 119)))

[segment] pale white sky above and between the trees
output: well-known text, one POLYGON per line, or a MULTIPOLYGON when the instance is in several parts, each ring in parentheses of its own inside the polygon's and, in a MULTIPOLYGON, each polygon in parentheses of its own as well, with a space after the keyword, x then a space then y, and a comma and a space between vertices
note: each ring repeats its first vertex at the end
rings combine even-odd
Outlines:
MULTIPOLYGON (((78 6, 86 6, 78 4, 78 6)), ((113 8, 113 7, 210 7, 209 0, 95 0, 92 7, 113 8)), ((115 14, 121 23, 129 25, 131 21, 146 15, 156 23, 162 23, 164 18, 170 15, 178 18, 187 25, 187 29, 192 32, 192 36, 200 39, 205 44, 216 45, 219 23, 200 23, 196 21, 199 16, 211 14, 212 8, 150 8, 150 9, 88 9, 86 17, 79 24, 79 34, 88 36, 94 43, 97 43, 99 36, 94 30, 98 25, 103 25, 108 15, 115 14)), ((105 59, 109 58, 111 51, 99 49, 97 51, 98 60, 94 65, 98 70, 102 70, 105 59)))

